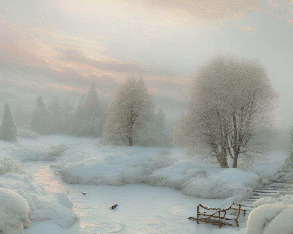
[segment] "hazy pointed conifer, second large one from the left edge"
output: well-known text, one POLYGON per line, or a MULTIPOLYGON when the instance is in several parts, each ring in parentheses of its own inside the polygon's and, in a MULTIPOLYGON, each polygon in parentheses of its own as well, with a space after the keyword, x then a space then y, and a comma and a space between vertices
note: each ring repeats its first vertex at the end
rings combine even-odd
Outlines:
POLYGON ((39 134, 52 133, 51 114, 47 110, 42 95, 39 95, 37 98, 36 107, 30 119, 29 127, 39 134))

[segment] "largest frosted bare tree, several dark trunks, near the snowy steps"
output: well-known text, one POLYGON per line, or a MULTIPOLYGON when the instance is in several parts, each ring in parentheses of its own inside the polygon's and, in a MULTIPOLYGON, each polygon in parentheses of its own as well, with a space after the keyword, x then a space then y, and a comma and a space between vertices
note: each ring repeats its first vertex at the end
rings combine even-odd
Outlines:
POLYGON ((275 97, 263 65, 214 56, 197 71, 173 139, 189 149, 203 149, 223 168, 229 167, 229 156, 230 166, 237 167, 239 154, 253 151, 259 134, 268 129, 275 97))

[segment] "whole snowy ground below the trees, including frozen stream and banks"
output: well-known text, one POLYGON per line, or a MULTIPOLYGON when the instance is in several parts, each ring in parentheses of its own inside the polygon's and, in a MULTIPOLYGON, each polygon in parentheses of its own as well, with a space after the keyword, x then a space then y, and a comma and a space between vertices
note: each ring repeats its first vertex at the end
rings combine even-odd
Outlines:
POLYGON ((0 160, 22 168, 9 164, 15 173, 4 172, 0 188, 28 202, 32 226, 24 233, 32 234, 244 233, 248 215, 239 227, 221 229, 188 217, 198 203, 226 207, 270 178, 278 182, 286 157, 275 151, 258 155, 249 168, 221 169, 178 148, 103 145, 96 138, 51 135, 0 145, 0 160))

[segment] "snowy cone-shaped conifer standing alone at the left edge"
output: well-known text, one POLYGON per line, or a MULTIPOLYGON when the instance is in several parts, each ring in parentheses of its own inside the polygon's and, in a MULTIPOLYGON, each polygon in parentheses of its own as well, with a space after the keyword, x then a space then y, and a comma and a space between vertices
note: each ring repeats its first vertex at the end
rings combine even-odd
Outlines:
POLYGON ((0 137, 3 140, 12 142, 16 142, 18 137, 16 123, 14 121, 11 107, 8 101, 5 103, 2 125, 0 128, 0 137))

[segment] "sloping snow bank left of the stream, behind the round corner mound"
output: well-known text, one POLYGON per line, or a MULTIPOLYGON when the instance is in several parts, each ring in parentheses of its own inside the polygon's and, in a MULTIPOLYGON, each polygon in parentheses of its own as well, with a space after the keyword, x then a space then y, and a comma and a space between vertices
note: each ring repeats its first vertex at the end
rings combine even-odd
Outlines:
MULTIPOLYGON (((3 161, 12 160, 0 162, 3 161)), ((0 165, 1 171, 9 171, 5 167, 11 165, 11 162, 0 165)), ((11 190, 25 199, 30 209, 30 221, 51 219, 61 228, 68 228, 78 220, 78 215, 71 210, 72 202, 67 195, 56 196, 50 193, 42 184, 34 183, 32 176, 22 169, 16 173, 4 173, 0 176, 0 188, 11 190)))

